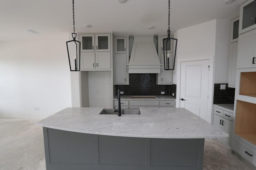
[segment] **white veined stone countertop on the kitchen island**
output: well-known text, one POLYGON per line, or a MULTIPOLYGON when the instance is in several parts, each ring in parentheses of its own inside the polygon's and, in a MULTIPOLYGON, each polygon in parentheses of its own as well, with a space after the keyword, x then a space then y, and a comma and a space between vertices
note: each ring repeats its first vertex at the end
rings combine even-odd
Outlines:
POLYGON ((42 127, 141 138, 219 138, 228 134, 184 108, 140 108, 141 115, 99 115, 103 108, 69 107, 36 123, 42 127))

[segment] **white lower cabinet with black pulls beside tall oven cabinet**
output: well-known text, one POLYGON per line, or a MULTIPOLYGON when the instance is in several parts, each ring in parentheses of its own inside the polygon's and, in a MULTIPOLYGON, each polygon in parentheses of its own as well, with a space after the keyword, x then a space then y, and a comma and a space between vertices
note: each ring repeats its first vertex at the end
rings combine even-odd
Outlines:
MULTIPOLYGON (((218 109, 214 110, 218 111, 218 109)), ((220 115, 219 112, 220 111, 217 112, 218 114, 214 114, 214 126, 228 133, 229 136, 226 138, 217 138, 217 140, 222 142, 222 144, 231 147, 233 121, 229 119, 233 119, 233 114, 226 111, 222 111, 222 115, 220 115)))

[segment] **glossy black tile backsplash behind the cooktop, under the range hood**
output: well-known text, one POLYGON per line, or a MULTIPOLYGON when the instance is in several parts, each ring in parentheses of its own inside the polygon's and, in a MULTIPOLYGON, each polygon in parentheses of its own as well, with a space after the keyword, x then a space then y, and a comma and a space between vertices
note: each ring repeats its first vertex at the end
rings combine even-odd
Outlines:
MULTIPOLYGON (((129 74, 130 85, 116 85, 117 90, 124 91, 124 95, 170 95, 171 85, 157 85, 156 74, 129 74)), ((176 94, 176 92, 175 92, 176 94)))

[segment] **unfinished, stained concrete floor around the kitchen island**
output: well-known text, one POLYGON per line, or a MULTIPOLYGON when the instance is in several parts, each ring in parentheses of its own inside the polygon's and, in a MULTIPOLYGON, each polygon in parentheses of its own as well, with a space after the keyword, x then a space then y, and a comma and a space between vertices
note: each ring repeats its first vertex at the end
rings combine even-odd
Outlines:
MULTIPOLYGON (((45 170, 39 119, 0 118, 0 170, 45 170)), ((205 140, 204 170, 252 170, 217 140, 205 140)))

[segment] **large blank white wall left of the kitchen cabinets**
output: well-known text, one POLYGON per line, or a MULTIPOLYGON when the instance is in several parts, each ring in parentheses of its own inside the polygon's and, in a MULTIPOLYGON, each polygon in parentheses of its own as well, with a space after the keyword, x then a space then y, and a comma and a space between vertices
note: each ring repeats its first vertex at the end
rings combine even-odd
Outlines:
POLYGON ((0 117, 44 118, 71 107, 67 40, 0 43, 0 117))

